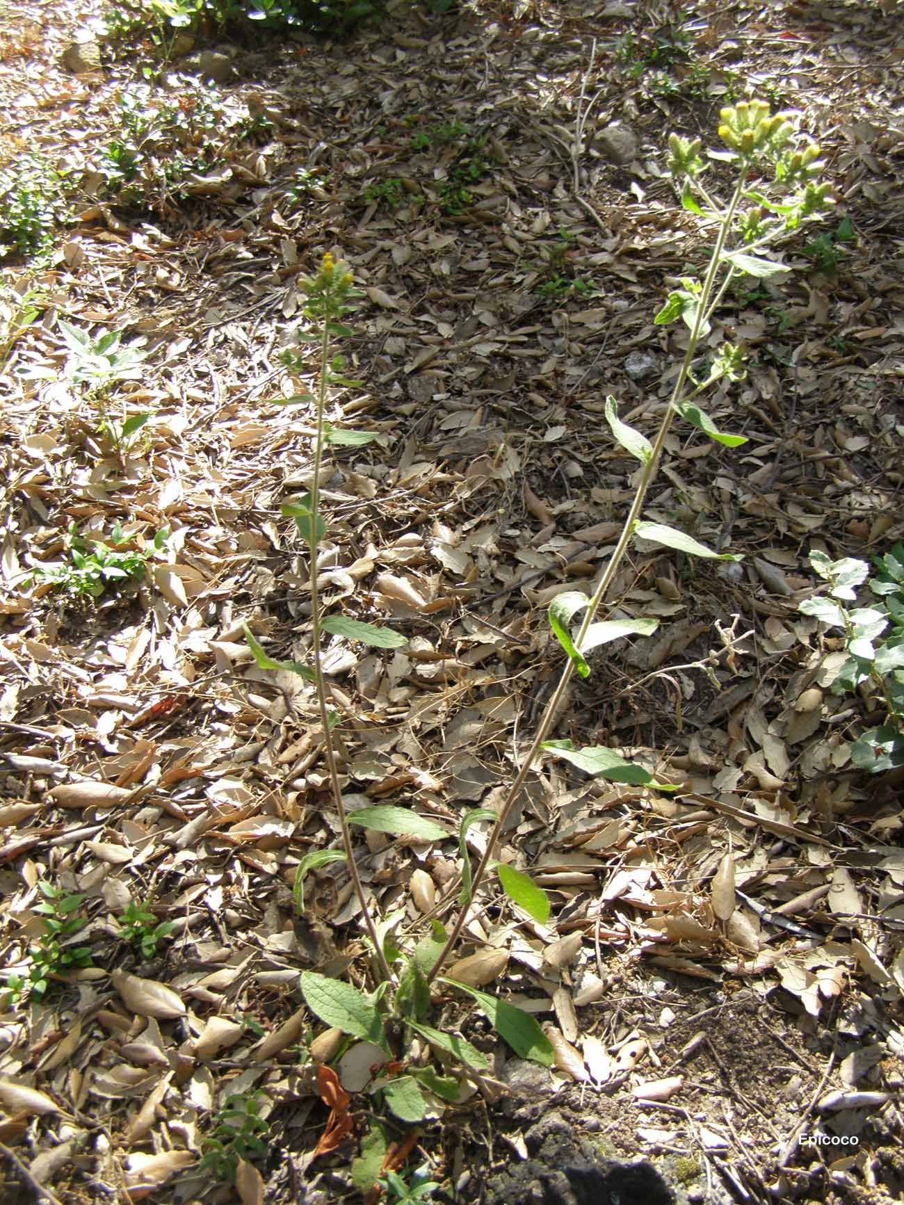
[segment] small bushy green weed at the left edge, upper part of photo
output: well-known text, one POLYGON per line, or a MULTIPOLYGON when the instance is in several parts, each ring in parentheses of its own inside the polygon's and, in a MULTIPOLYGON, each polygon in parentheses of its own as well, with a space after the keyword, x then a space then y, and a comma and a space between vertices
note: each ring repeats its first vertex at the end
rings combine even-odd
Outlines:
POLYGON ((58 223, 70 213, 69 172, 39 154, 0 171, 0 259, 46 255, 58 223))

